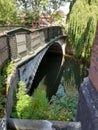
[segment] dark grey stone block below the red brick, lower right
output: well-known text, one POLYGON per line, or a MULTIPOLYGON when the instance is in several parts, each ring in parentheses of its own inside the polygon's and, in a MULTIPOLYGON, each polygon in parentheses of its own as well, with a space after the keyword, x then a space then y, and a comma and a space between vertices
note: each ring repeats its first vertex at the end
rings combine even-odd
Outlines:
POLYGON ((82 130, 98 130, 98 92, 89 78, 80 86, 77 120, 82 130))

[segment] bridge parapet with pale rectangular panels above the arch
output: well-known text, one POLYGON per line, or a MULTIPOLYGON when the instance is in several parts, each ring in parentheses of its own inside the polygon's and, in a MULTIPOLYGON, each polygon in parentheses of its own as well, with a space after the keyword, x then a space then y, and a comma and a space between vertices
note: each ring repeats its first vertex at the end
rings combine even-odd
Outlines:
MULTIPOLYGON (((26 55, 34 53, 39 47, 48 44, 51 39, 59 36, 63 36, 62 28, 59 26, 45 27, 33 31, 21 27, 16 28, 0 37, 0 55, 3 43, 2 38, 4 39, 4 37, 6 39, 6 48, 8 48, 5 53, 8 53, 11 60, 17 62, 26 55)), ((0 64, 2 62, 0 61, 0 64)))

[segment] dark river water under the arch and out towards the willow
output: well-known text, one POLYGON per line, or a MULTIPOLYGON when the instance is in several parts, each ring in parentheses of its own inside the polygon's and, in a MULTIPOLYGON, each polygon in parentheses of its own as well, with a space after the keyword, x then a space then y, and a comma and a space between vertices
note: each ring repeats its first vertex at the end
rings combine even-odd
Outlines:
POLYGON ((78 90, 83 78, 88 74, 87 67, 86 63, 73 58, 47 53, 38 68, 30 95, 35 88, 41 86, 46 89, 47 97, 50 99, 61 83, 68 91, 78 90))

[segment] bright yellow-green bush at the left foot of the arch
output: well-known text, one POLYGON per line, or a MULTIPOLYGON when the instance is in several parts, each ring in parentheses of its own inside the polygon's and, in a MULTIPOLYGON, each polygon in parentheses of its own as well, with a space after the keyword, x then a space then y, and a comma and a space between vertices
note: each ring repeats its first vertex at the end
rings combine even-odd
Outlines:
MULTIPOLYGON (((18 84, 18 93, 17 103, 16 103, 16 111, 18 118, 31 118, 32 116, 32 98, 26 94, 26 86, 23 82, 19 82, 18 84)), ((15 113, 14 113, 15 114, 15 113)))

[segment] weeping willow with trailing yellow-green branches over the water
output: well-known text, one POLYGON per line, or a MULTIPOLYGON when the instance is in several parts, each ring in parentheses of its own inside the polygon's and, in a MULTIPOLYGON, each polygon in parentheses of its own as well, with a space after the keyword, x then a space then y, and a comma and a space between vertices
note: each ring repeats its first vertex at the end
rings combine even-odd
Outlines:
POLYGON ((69 16, 69 41, 79 57, 91 57, 98 20, 98 0, 77 0, 69 16))

